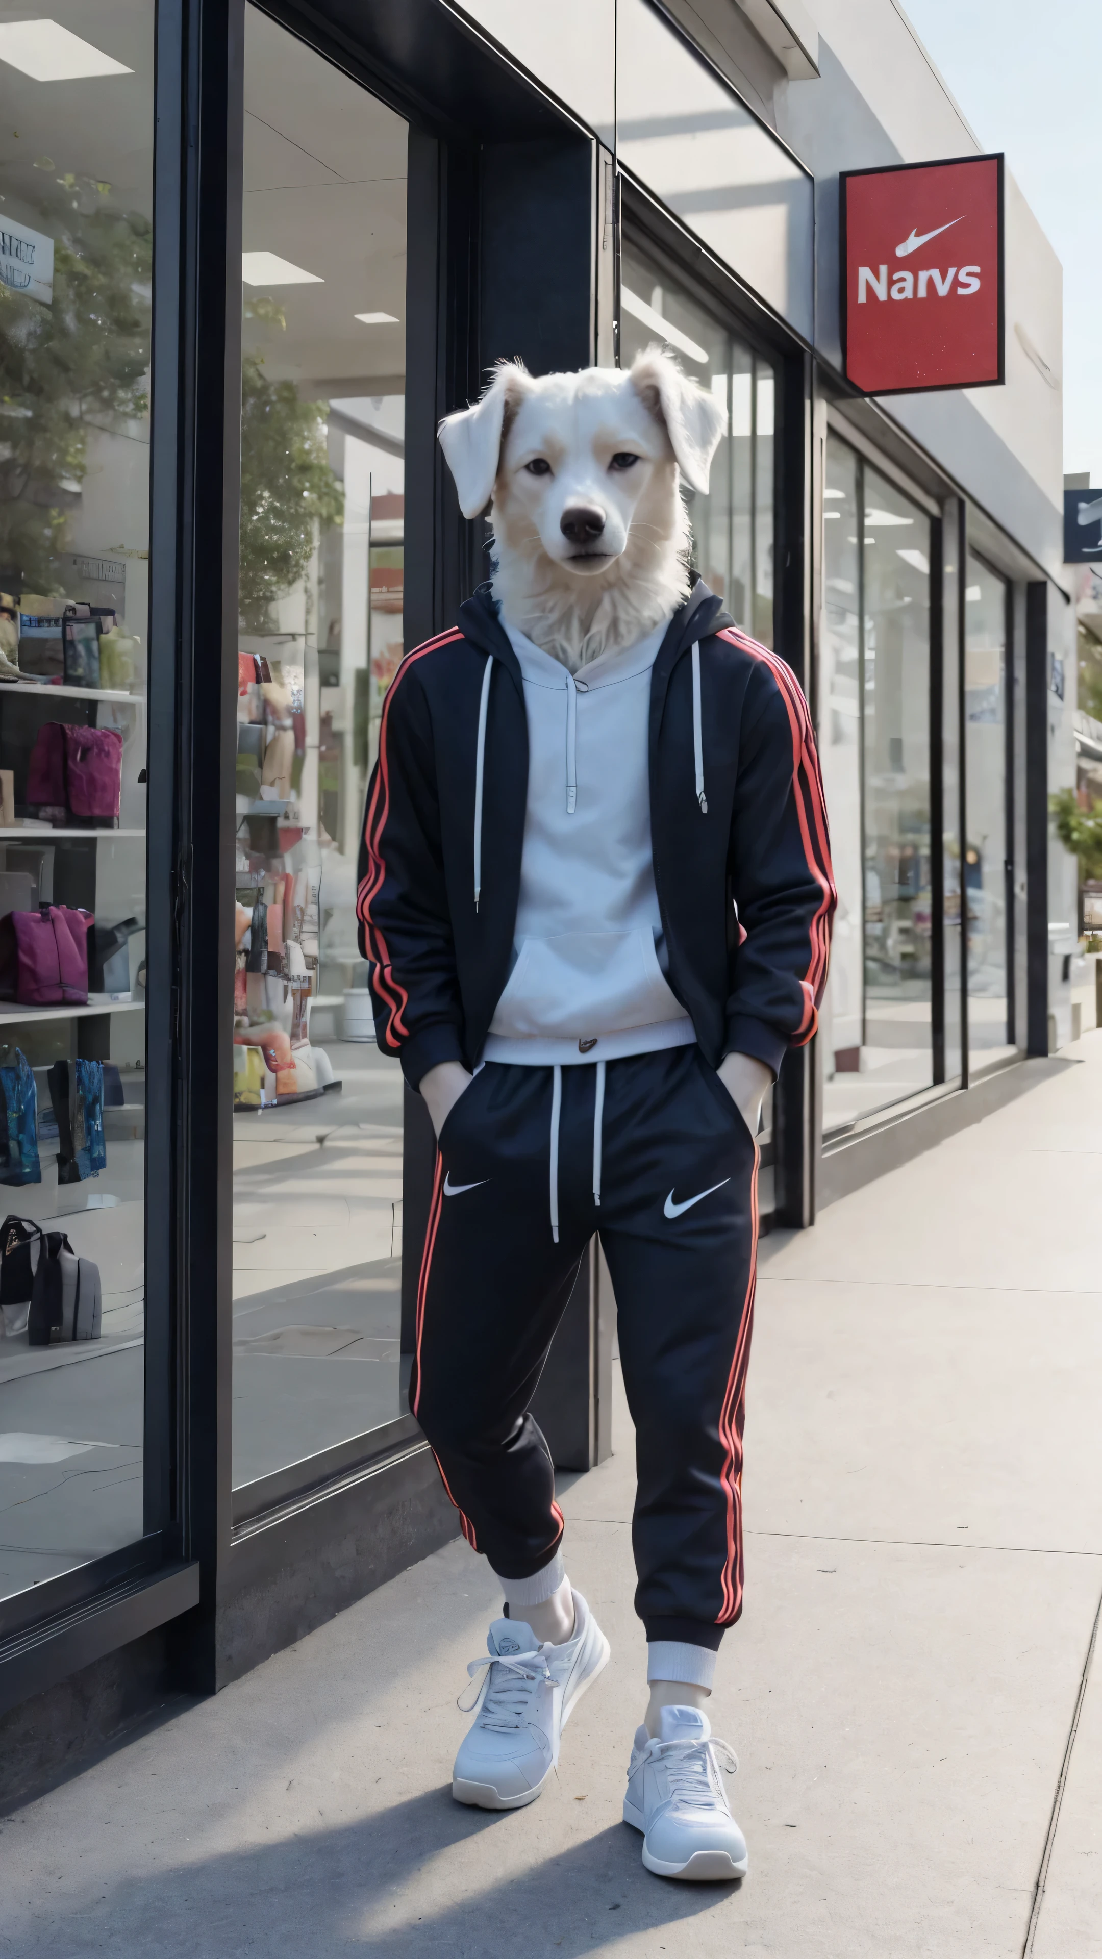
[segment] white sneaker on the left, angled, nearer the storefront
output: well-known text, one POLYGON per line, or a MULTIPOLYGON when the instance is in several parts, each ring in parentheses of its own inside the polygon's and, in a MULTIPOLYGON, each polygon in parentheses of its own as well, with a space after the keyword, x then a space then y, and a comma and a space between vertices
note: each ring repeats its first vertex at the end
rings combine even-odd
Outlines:
POLYGON ((451 1794, 480 1810, 520 1810, 535 1802, 559 1761, 559 1736, 575 1706, 608 1665, 610 1646, 580 1593, 575 1632, 563 1646, 541 1646, 522 1618, 496 1618, 475 1722, 461 1742, 451 1794))

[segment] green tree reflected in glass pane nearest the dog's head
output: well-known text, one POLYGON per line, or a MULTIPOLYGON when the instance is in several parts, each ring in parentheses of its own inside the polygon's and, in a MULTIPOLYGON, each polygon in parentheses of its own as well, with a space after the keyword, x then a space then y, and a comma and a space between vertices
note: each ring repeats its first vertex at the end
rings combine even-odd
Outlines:
MULTIPOLYGON (((284 327, 275 300, 245 300, 245 319, 284 327)), ((316 525, 341 523, 345 498, 329 468, 326 404, 300 402, 294 382, 269 380, 265 357, 241 358, 241 572, 239 609, 265 625, 267 607, 298 584, 316 525)))

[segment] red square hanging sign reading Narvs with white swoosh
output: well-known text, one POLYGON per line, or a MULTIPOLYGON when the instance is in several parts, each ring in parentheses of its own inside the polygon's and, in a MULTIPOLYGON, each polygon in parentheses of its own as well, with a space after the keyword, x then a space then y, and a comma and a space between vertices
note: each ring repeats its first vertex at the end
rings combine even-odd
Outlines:
POLYGON ((841 172, 841 349, 865 394, 1002 368, 1002 157, 841 172))

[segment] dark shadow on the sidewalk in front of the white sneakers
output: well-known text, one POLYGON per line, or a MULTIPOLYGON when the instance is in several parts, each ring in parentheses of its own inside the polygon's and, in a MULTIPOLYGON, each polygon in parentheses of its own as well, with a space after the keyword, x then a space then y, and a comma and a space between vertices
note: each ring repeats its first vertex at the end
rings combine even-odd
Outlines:
MULTIPOLYGON (((373 1959, 524 1951, 526 1959, 580 1959, 637 1932, 678 1928, 737 1900, 739 1887, 678 1885, 639 1863, 639 1836, 614 1824, 559 1855, 516 1869, 516 1830, 531 1810, 492 1816, 465 1810, 433 1789, 337 1830, 290 1834, 227 1855, 145 1877, 127 1877, 65 1926, 67 1959, 110 1951, 112 1959, 235 1959, 294 1953, 329 1959, 371 1951, 373 1959), (441 1904, 447 1873, 435 1861, 486 1832, 502 1832, 500 1881, 467 1888, 463 1855, 455 1902, 441 1904), (418 1881, 426 1908, 418 1912, 418 1881), (388 1924, 388 1920, 392 1920, 388 1924)), ((535 1845, 533 1845, 535 1847, 535 1845)), ((482 1863, 488 1859, 482 1851, 482 1863)), ((476 1885, 476 1877, 471 1879, 476 1885)), ((14 1928, 10 1928, 14 1930, 14 1928)), ((41 1930, 41 1928, 37 1928, 41 1930)), ((735 1924, 731 1924, 731 1934, 735 1924)), ((688 1934, 690 1935, 690 1934, 688 1934)))

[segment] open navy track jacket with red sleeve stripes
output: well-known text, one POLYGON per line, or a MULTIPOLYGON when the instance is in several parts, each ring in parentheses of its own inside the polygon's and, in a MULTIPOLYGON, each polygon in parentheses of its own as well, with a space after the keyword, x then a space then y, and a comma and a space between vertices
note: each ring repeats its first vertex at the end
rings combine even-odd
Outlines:
MULTIPOLYGON (((812 1038, 827 972, 820 764, 792 670, 700 582, 653 666, 649 774, 669 985, 712 1068, 735 1050, 776 1074, 812 1038)), ((480 586, 402 660, 367 793, 359 942, 378 1046, 414 1089, 478 1060, 512 966, 526 799, 524 682, 480 586)))

